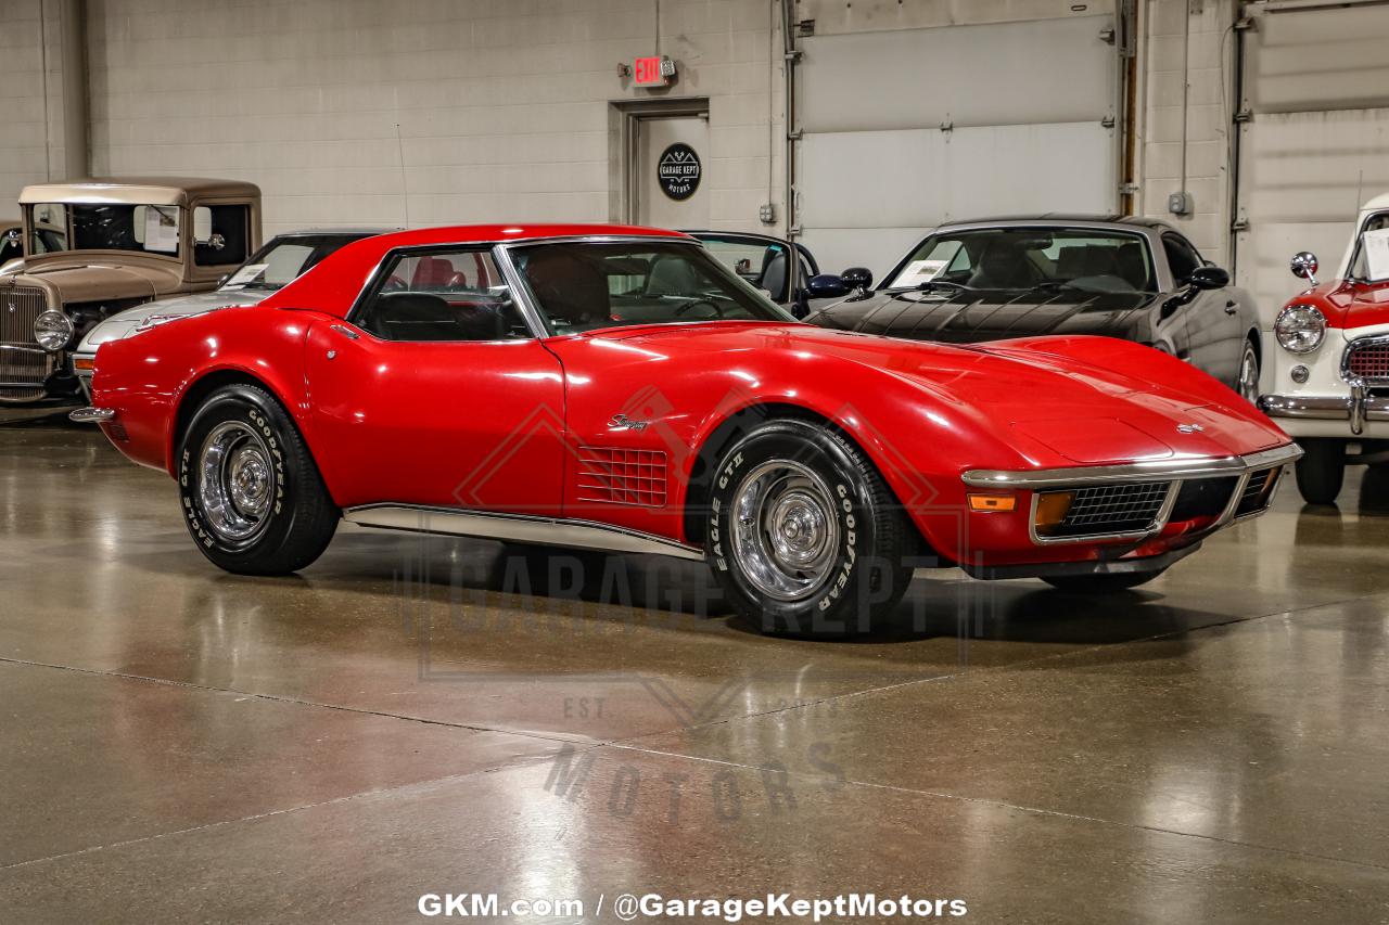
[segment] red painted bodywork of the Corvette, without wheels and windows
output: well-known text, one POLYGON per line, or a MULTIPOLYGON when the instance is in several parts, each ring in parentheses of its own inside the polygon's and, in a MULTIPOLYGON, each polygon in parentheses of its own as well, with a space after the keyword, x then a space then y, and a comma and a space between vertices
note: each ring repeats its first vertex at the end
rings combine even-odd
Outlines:
MULTIPOLYGON (((663 233, 524 233, 632 231, 663 233)), ((689 540, 688 478, 714 431, 751 406, 796 406, 857 440, 936 551, 983 565, 1093 560, 1101 546, 1033 544, 1026 493, 1015 512, 965 514, 967 469, 1235 456, 1288 443, 1210 376, 1106 338, 956 347, 733 321, 499 343, 392 343, 332 331, 392 247, 503 232, 365 239, 261 306, 108 343, 97 354, 94 403, 118 412, 124 453, 171 469, 175 414, 188 389, 204 375, 238 371, 289 408, 343 507, 524 511, 681 542, 689 540), (1203 429, 1179 433, 1179 422, 1203 429), (638 460, 625 469, 629 486, 649 488, 651 479, 638 476, 653 472, 667 478, 658 493, 594 500, 601 492, 585 475, 594 454, 638 460)), ((1171 525, 1145 553, 1164 551, 1189 528, 1171 525)))

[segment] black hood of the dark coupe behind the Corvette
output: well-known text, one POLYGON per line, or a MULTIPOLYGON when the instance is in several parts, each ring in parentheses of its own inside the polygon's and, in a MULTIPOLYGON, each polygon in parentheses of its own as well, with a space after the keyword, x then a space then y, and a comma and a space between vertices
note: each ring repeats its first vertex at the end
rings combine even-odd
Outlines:
POLYGON ((1035 335, 1107 335, 1143 339, 1154 293, 1078 290, 875 292, 826 306, 806 321, 861 333, 976 343, 1035 335))

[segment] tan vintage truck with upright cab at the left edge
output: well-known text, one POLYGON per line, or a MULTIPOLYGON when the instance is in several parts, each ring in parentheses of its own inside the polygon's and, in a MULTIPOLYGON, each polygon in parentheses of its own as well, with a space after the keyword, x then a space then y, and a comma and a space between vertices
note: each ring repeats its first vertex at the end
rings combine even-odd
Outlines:
POLYGON ((40 183, 19 208, 19 258, 0 265, 0 404, 78 401, 71 351, 90 328, 213 289, 260 247, 260 188, 239 181, 40 183))

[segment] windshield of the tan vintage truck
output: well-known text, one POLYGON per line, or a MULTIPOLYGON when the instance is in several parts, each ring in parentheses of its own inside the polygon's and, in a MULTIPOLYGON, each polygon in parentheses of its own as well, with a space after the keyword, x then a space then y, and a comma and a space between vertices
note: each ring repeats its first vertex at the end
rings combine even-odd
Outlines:
POLYGON ((131 250, 178 257, 178 206, 38 203, 29 207, 32 254, 131 250))

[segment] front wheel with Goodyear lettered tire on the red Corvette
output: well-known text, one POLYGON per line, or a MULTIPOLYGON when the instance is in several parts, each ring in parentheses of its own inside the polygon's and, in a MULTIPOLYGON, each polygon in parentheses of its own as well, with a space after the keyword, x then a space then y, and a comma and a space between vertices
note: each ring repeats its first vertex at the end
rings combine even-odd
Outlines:
POLYGON ((911 581, 914 529, 872 462, 804 421, 774 421, 718 464, 706 551, 732 606, 764 632, 863 633, 911 581))

